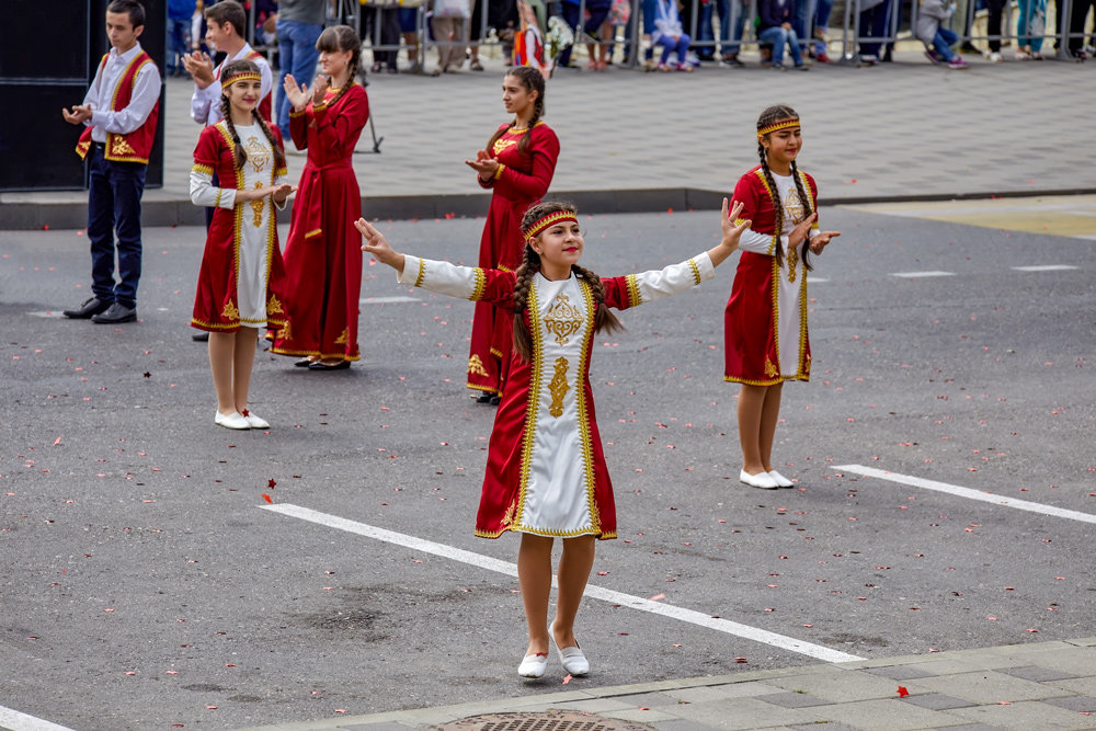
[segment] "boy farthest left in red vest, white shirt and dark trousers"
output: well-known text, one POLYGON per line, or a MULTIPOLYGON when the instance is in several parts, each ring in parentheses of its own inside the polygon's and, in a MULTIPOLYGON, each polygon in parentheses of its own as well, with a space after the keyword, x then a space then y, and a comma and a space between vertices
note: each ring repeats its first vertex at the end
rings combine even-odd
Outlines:
POLYGON ((76 151, 88 159, 88 243, 91 297, 65 317, 101 324, 137 319, 140 281, 140 198, 160 113, 160 72, 137 38, 145 8, 136 0, 106 7, 111 53, 103 56, 83 104, 61 110, 65 121, 84 125, 76 151), (118 277, 114 281, 114 235, 118 277))

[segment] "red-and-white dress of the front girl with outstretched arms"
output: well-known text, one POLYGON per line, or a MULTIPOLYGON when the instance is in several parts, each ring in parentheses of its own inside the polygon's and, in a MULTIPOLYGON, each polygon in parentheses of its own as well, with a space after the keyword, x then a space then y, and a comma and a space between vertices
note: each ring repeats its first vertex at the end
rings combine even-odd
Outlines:
MULTIPOLYGON (((636 307, 713 276, 711 260, 700 254, 660 271, 603 278, 605 305, 636 307)), ((400 282, 501 306, 511 301, 515 276, 406 255, 400 282)), ((488 447, 477 536, 498 538, 514 530, 616 537, 613 484, 590 388, 595 313, 583 279, 533 276, 524 313, 532 358, 514 354, 511 359, 488 447)))

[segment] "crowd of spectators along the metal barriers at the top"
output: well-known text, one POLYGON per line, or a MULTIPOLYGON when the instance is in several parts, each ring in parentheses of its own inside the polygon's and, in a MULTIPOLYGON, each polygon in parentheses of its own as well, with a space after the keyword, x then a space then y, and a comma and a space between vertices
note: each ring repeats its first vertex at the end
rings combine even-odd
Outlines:
MULTIPOLYGON (((1058 11, 1065 8, 1065 0, 1049 1, 1059 3, 1058 11)), ((202 11, 205 4, 215 2, 168 0, 168 76, 185 76, 179 61, 181 55, 205 49, 202 11)), ((1011 58, 1038 60, 1051 45, 1047 37, 1054 35, 1054 27, 1047 24, 1048 0, 846 2, 855 2, 850 31, 859 33, 860 43, 852 50, 861 66, 891 60, 892 30, 903 22, 910 38, 924 43, 929 61, 957 69, 969 66, 962 58, 964 54, 980 54, 991 62, 1001 62, 1005 60, 1002 49, 1008 45, 1014 47, 1011 58), (974 3, 973 9, 970 3, 974 3), (989 38, 978 47, 971 36, 989 38)), ((355 3, 363 47, 372 50, 372 62, 367 58, 363 71, 374 73, 438 76, 464 68, 482 71, 482 44, 496 44, 504 58, 513 59, 515 38, 522 46, 521 36, 536 25, 537 37, 543 38, 547 20, 553 16, 574 32, 574 43, 555 49, 556 57, 545 68, 581 68, 574 52, 585 45, 584 67, 602 71, 614 59, 619 64, 632 53, 633 26, 629 20, 633 10, 639 13, 635 23, 640 34, 639 60, 648 70, 692 71, 708 62, 742 67, 745 61, 740 50, 745 41, 756 44, 761 66, 776 70, 787 68, 787 56, 795 68, 803 70, 811 64, 831 61, 830 15, 834 0, 282 0, 281 19, 278 0, 243 1, 254 20, 252 45, 275 66, 285 64, 290 70, 309 59, 315 64, 308 47, 315 44, 311 36, 319 31, 315 23, 301 24, 286 15, 296 18, 306 12, 301 8, 307 5, 307 12, 322 12, 328 22, 346 22, 355 3), (429 54, 421 53, 423 36, 427 38, 429 54), (406 59, 402 66, 401 58, 406 59)), ((1063 55, 1077 60, 1093 55, 1094 3, 1096 0, 1071 0, 1066 22, 1070 38, 1063 55)), ((834 20, 841 25, 844 18, 834 20)), ((538 48, 538 53, 548 52, 538 48)), ((1060 52, 1053 48, 1051 53, 1060 52)), ((526 62, 526 57, 520 55, 516 62, 526 62)))

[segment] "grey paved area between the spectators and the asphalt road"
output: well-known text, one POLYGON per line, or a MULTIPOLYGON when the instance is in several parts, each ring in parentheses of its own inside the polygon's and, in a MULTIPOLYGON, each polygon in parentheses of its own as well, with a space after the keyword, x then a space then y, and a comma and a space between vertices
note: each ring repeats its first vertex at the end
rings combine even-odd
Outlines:
MULTIPOLYGON (((952 71, 920 50, 875 68, 819 65, 774 73, 708 65, 696 73, 558 71, 546 94, 562 150, 551 193, 587 213, 712 208, 756 162, 754 123, 783 102, 803 119, 804 170, 825 203, 1096 191, 1077 121, 1096 116, 1094 66, 971 59, 952 71)), ((365 214, 380 219, 482 215, 487 196, 463 161, 505 121, 503 66, 430 78, 378 75, 376 133, 358 144, 365 214)), ((187 195, 199 127, 192 84, 168 81, 164 185, 145 194, 145 224, 198 224, 187 195)), ((302 156, 289 159, 299 176, 302 156)), ((78 164, 73 156, 73 164, 78 164)), ((0 194, 0 229, 80 228, 83 192, 0 194)))

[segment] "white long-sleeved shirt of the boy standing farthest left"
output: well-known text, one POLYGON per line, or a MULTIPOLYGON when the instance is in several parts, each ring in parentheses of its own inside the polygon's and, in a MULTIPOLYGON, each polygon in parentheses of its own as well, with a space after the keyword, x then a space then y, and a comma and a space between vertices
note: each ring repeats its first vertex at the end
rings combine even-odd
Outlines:
POLYGON ((111 108, 122 75, 140 52, 140 43, 135 43, 124 54, 119 54, 117 48, 111 48, 111 53, 106 55, 106 65, 100 64, 95 70, 95 78, 83 98, 83 103, 90 104, 92 108, 91 119, 84 122, 84 125, 91 127, 92 140, 105 142, 106 133, 128 135, 145 124, 160 100, 160 71, 156 64, 145 64, 134 79, 129 104, 117 112, 111 108))

